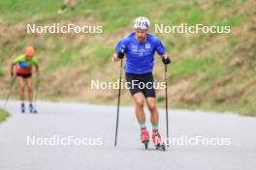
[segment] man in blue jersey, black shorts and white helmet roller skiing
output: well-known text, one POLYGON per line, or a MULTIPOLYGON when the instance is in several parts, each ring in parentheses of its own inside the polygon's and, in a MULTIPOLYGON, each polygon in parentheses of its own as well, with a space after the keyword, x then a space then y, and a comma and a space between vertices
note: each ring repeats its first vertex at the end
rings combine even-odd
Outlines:
POLYGON ((134 20, 134 32, 117 43, 112 61, 117 62, 126 56, 125 77, 130 93, 135 102, 135 112, 141 127, 142 143, 149 142, 149 133, 145 126, 144 100, 150 111, 152 124, 152 140, 155 146, 163 145, 163 138, 158 130, 159 113, 155 103, 154 54, 161 57, 164 65, 171 63, 162 42, 155 36, 148 34, 150 22, 140 16, 134 20), (142 84, 151 86, 142 86, 142 84), (139 85, 141 84, 141 85, 139 85))

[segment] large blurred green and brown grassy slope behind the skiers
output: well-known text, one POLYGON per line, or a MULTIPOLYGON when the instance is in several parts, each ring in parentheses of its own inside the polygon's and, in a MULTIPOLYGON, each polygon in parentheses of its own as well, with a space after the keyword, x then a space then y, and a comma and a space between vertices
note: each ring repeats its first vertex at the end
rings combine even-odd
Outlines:
MULTIPOLYGON (((232 111, 256 116, 256 51, 253 48, 256 39, 252 19, 255 18, 256 4, 253 0, 161 0, 144 4, 139 0, 80 0, 74 12, 57 14, 61 4, 61 1, 51 0, 0 1, 2 30, 14 33, 2 33, 5 36, 0 39, 3 44, 0 51, 3 56, 0 57, 0 63, 3 63, 0 66, 0 89, 3 90, 0 96, 7 93, 4 89, 8 89, 5 82, 9 81, 11 60, 24 45, 31 43, 37 49, 44 72, 40 99, 116 104, 116 91, 91 93, 88 90, 90 80, 114 81, 118 78, 119 65, 110 60, 115 43, 131 31, 136 16, 144 15, 151 20, 152 33, 155 23, 231 26, 230 34, 157 34, 173 60, 168 69, 172 92, 170 108, 232 111), (20 34, 18 30, 30 22, 38 25, 97 23, 103 26, 104 34, 20 34)), ((155 68, 156 78, 162 81, 161 62, 156 63, 155 68)), ((164 93, 159 93, 157 102, 164 106, 164 93)), ((132 104, 129 93, 125 94, 121 103, 132 104)))

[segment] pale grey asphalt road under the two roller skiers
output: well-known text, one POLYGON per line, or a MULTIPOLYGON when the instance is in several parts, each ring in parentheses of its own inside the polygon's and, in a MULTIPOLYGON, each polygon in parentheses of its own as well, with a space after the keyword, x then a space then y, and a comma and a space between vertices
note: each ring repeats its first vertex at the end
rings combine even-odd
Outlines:
MULTIPOLYGON (((113 147, 115 106, 39 102, 40 112, 33 115, 20 114, 19 103, 11 101, 7 109, 12 117, 0 125, 0 170, 254 170, 256 167, 256 118, 170 110, 172 143, 167 152, 160 152, 152 144, 144 150, 133 107, 120 109, 117 147, 113 147), (62 143, 57 144, 60 140, 62 143)), ((160 130, 165 136, 165 112, 160 112, 160 130)), ((151 130, 146 113, 147 127, 151 130)))

